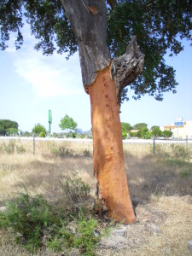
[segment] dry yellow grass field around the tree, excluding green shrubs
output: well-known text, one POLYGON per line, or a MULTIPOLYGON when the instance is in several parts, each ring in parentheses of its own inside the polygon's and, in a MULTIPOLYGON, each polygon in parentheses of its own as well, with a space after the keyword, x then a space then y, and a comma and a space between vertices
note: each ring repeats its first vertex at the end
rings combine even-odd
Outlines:
MULTIPOLYGON (((125 144, 125 169, 137 223, 126 228, 123 247, 97 246, 95 255, 191 255, 192 148, 125 144)), ((43 195, 50 206, 68 206, 61 178, 81 178, 95 195, 92 144, 77 142, 0 140, 0 207, 27 189, 43 195)), ((64 211, 63 210, 63 211, 64 211)), ((30 255, 15 245, 11 230, 0 231, 0 255, 30 255)), ((43 247, 37 255, 67 255, 43 247)), ((68 254, 81 255, 81 254, 68 254)), ((91 254, 84 254, 91 255, 91 254)))

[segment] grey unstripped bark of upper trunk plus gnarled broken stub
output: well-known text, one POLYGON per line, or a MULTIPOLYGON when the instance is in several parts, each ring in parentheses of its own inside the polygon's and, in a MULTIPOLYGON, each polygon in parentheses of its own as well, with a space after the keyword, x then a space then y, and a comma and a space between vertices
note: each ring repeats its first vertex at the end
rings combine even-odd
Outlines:
MULTIPOLYGON (((116 1, 111 1, 116 2, 116 1)), ((61 0, 79 44, 84 89, 96 81, 99 71, 111 65, 107 45, 107 7, 104 0, 61 0)), ((125 55, 113 59, 111 76, 120 105, 122 90, 142 72, 144 55, 131 39, 125 55)))

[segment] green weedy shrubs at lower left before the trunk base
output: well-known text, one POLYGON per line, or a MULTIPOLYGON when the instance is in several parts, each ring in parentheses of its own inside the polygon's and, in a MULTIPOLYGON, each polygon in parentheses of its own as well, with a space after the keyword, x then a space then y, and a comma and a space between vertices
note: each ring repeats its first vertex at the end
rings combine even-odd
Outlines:
POLYGON ((39 247, 66 255, 78 248, 81 255, 95 255, 96 244, 103 236, 95 235, 98 227, 88 209, 79 207, 76 212, 63 214, 41 195, 31 196, 26 189, 15 201, 7 203, 4 212, 0 211, 0 228, 14 232, 15 242, 30 255, 37 253, 39 247))

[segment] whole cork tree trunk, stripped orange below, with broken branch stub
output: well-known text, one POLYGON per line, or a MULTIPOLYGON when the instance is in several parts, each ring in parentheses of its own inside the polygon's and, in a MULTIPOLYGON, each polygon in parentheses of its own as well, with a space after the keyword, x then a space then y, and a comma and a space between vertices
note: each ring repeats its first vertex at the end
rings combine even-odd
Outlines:
POLYGON ((135 221, 125 174, 119 103, 123 88, 142 72, 144 55, 136 38, 125 55, 111 60, 104 0, 61 0, 79 44, 85 91, 90 95, 96 195, 108 216, 135 221))

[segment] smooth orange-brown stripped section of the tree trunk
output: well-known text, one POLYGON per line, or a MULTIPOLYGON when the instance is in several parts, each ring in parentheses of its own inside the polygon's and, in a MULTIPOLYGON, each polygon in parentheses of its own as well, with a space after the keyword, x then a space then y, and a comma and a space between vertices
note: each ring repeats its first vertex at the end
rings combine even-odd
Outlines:
POLYGON ((94 174, 108 207, 110 218, 135 221, 125 174, 122 133, 116 86, 109 68, 98 73, 94 84, 88 86, 94 148, 94 174))

